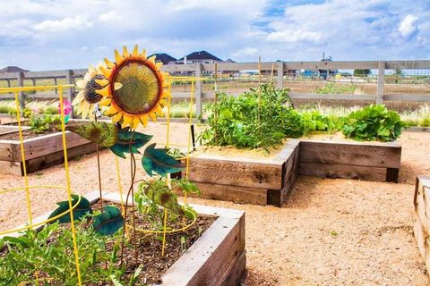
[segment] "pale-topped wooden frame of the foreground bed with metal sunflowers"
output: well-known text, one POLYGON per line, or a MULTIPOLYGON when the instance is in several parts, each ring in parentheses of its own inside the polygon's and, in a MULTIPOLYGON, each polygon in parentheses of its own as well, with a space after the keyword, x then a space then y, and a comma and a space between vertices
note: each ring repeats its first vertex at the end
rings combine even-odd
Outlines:
MULTIPOLYGON (((85 195, 85 198, 88 198, 91 204, 95 204, 99 201, 99 191, 91 192, 85 195)), ((118 193, 105 193, 103 200, 105 203, 115 204, 121 201, 118 193)), ((200 216, 218 218, 168 268, 162 275, 162 283, 159 285, 239 285, 246 264, 245 213, 211 206, 191 206, 200 216)), ((34 222, 46 220, 49 214, 36 218, 34 222)))

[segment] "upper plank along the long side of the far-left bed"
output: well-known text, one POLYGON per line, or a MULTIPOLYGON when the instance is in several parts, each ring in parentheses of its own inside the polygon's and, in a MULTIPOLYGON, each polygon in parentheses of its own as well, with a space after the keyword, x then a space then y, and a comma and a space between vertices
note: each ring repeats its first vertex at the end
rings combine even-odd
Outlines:
MULTIPOLYGON (((45 136, 40 136, 32 139, 25 139, 24 144, 24 152, 25 159, 29 160, 32 158, 37 158, 39 156, 45 156, 48 154, 52 154, 58 151, 63 150, 63 138, 62 133, 57 132, 54 134, 49 134, 45 136)), ((70 131, 65 131, 65 138, 67 148, 77 147, 81 145, 85 145, 90 143, 89 140, 83 139, 78 134, 75 134, 70 131)), ((13 156, 15 161, 21 161, 21 147, 20 144, 13 144, 13 156)))

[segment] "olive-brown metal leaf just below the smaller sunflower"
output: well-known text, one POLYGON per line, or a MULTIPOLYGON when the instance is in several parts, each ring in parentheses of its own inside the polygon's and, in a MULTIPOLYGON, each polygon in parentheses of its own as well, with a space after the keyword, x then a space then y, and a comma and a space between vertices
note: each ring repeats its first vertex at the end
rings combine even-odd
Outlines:
POLYGON ((115 124, 109 122, 84 122, 67 126, 70 130, 82 138, 99 145, 99 147, 111 147, 118 139, 118 129, 115 124))

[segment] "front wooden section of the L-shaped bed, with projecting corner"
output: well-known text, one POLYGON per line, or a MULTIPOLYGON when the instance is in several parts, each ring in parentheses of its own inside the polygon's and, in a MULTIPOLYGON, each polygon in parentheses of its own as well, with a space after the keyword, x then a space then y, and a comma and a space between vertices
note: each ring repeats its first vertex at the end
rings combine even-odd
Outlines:
POLYGON ((289 140, 273 158, 203 153, 190 159, 188 178, 202 190, 202 198, 281 206, 297 178, 298 144, 289 140))

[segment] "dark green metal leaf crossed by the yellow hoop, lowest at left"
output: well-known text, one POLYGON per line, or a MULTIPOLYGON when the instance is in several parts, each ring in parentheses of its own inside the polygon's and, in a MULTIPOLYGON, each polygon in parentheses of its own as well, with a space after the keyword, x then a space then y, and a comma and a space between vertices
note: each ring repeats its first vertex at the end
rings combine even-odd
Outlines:
MULTIPOLYGON (((78 202, 79 196, 72 195, 72 206, 76 205, 78 202)), ((58 214, 62 214, 65 211, 69 210, 69 201, 64 200, 62 202, 56 203, 58 207, 56 210, 49 215, 48 219, 55 217, 58 214)), ((75 221, 80 221, 85 214, 92 214, 90 202, 88 199, 81 197, 81 202, 73 209, 73 219, 75 221)), ((60 216, 57 220, 59 223, 70 223, 70 214, 66 213, 60 216)))

